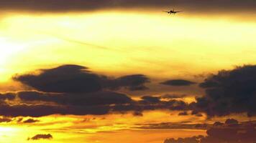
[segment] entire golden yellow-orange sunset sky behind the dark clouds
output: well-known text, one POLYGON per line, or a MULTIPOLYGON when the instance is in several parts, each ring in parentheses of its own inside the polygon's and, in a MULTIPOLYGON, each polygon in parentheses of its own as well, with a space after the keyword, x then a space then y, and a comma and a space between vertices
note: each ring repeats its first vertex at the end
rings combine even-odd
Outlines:
MULTIPOLYGON (((7 0, 0 2, 0 5, 4 5, 0 6, 3 9, 0 10, 1 96, 22 91, 52 93, 33 87, 29 81, 23 82, 19 76, 38 75, 47 72, 47 69, 73 64, 86 66, 92 73, 113 79, 132 74, 147 76, 150 82, 145 83, 148 87, 146 90, 115 90, 134 101, 140 101, 144 96, 161 97, 160 100, 165 101, 163 96, 175 95, 175 99, 190 104, 196 101, 195 97, 204 97, 204 89, 198 84, 210 74, 256 63, 256 11, 244 8, 247 3, 252 6, 256 4, 254 1, 245 1, 244 4, 239 2, 242 4, 239 10, 235 5, 229 6, 227 1, 223 5, 218 1, 216 4, 209 2, 209 5, 207 2, 186 4, 187 1, 173 1, 172 4, 171 0, 170 3, 160 1, 158 5, 150 1, 145 6, 143 1, 124 1, 124 4, 119 1, 120 4, 113 7, 108 1, 102 1, 106 4, 106 7, 103 4, 103 8, 101 1, 95 7, 93 4, 96 2, 88 2, 88 7, 91 4, 92 9, 79 6, 78 0, 73 2, 78 5, 63 1, 67 5, 60 6, 56 5, 61 1, 56 4, 51 1, 36 0, 34 3, 31 1, 31 4, 25 0, 20 4, 14 0, 10 3, 7 0), (38 6, 37 3, 49 4, 38 6), (132 6, 133 3, 135 6, 132 6), (204 9, 200 10, 201 6, 204 9), (227 10, 222 6, 226 6, 227 10), (173 8, 183 12, 175 15, 163 12, 173 8), (17 76, 18 79, 15 79, 17 76), (159 84, 171 79, 184 79, 196 84, 159 84)), ((81 2, 82 5, 84 3, 81 2)), ((0 98, 0 104, 11 107, 45 102, 48 101, 22 103, 19 98, 12 101, 4 99, 2 102, 0 98)), ((205 129, 147 129, 144 125, 168 122, 210 124, 216 120, 224 121, 227 117, 236 117, 241 121, 249 119, 247 110, 221 117, 217 114, 210 119, 204 112, 202 116, 180 116, 178 114, 182 111, 168 108, 142 109, 138 111, 142 112, 139 115, 134 115, 132 110, 107 114, 61 112, 39 117, 6 114, 5 108, 1 108, 0 142, 3 143, 160 143, 170 137, 192 137, 205 135, 206 132, 205 129), (27 119, 33 119, 34 122, 24 122, 27 119), (27 139, 36 134, 51 134, 52 139, 27 139)))

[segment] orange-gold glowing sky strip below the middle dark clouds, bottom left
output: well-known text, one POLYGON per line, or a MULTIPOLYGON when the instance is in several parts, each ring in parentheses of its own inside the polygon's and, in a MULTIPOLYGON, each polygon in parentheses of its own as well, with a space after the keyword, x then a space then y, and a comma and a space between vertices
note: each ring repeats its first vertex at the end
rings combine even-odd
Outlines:
MULTIPOLYGON (((204 130, 184 129, 137 129, 139 124, 160 122, 180 122, 190 117, 178 117, 178 112, 152 111, 145 112, 143 117, 134 117, 132 114, 106 114, 102 116, 60 116, 37 118, 35 124, 4 124, 0 127, 0 141, 6 143, 32 142, 27 137, 35 134, 52 134, 52 140, 38 140, 36 142, 104 142, 111 143, 125 139, 124 143, 135 142, 140 137, 141 142, 163 142, 168 137, 191 137, 206 134, 204 130), (152 118, 154 117, 154 118, 152 118)), ((29 119, 29 118, 24 118, 29 119)), ((198 119, 200 121, 201 119, 198 119)))

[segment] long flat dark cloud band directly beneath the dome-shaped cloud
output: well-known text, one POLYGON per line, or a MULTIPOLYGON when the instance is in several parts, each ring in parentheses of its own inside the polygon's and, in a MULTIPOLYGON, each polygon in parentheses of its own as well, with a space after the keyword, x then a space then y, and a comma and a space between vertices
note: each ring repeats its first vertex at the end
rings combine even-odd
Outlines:
MULTIPOLYGON (((17 92, 17 102, 0 104, 0 115, 6 117, 43 117, 51 114, 109 114, 142 112, 155 109, 188 110, 189 104, 175 99, 162 101, 160 97, 142 97, 135 101, 126 94, 116 92, 93 92, 87 94, 56 94, 45 92, 17 92)), ((22 122, 20 119, 19 122, 22 122)), ((24 122, 35 122, 29 119, 24 122)), ((23 123, 24 123, 23 122, 23 123)))

